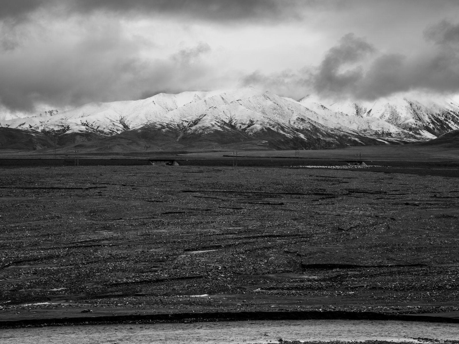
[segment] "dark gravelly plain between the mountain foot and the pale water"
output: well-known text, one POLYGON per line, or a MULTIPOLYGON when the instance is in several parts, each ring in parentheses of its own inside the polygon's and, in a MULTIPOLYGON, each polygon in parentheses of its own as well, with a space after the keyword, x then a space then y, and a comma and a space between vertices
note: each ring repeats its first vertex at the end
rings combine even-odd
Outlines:
POLYGON ((0 326, 241 312, 459 319, 458 178, 219 166, 0 171, 0 326))

